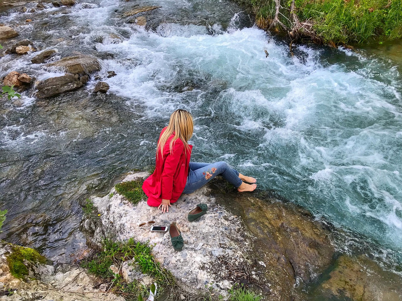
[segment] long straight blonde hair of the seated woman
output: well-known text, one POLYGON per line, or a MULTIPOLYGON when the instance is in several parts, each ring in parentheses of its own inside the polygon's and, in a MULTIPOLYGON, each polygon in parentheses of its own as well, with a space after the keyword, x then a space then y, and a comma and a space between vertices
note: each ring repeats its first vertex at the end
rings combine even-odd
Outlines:
MULTIPOLYGON (((173 139, 170 141, 169 150, 170 153, 173 151, 173 144, 177 139, 180 139, 183 144, 185 150, 189 150, 189 144, 187 143, 191 136, 193 136, 193 117, 191 114, 185 110, 176 110, 170 115, 170 120, 168 127, 160 136, 158 141, 158 146, 156 147, 156 157, 158 158, 159 153, 163 157, 163 148, 169 139, 170 135, 174 133, 173 139)), ((185 152, 187 157, 187 151, 185 152)))

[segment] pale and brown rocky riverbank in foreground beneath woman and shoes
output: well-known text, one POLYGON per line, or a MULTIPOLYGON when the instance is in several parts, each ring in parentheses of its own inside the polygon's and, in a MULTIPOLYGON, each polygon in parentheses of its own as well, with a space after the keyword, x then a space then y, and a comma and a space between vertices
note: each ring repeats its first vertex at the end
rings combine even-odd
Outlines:
MULTIPOLYGON (((123 182, 141 182, 147 175, 132 173, 123 182)), ((176 279, 176 290, 181 295, 225 298, 234 285, 244 285, 265 300, 305 300, 306 292, 310 297, 331 300, 402 300, 400 277, 384 272, 365 255, 352 258, 337 253, 331 231, 305 210, 275 199, 263 201, 234 193, 219 180, 183 195, 166 214, 149 207, 144 199, 133 205, 115 188, 91 201, 98 214, 82 219, 88 245, 97 248, 105 239, 130 238, 150 244, 161 267, 176 279), (187 213, 198 203, 208 205, 207 214, 189 222, 187 213), (160 226, 175 222, 184 238, 183 250, 172 248, 168 232, 139 228, 139 223, 150 220, 160 226)), ((99 288, 96 279, 77 264, 43 264, 39 254, 19 258, 27 273, 16 275, 13 254, 28 254, 21 249, 31 250, 4 242, 0 246, 0 299, 76 300, 80 293, 83 301, 122 300, 105 293, 106 289, 99 288)), ((149 287, 155 281, 138 270, 135 260, 109 268, 127 283, 140 281, 149 287)))

